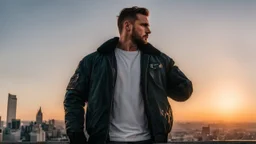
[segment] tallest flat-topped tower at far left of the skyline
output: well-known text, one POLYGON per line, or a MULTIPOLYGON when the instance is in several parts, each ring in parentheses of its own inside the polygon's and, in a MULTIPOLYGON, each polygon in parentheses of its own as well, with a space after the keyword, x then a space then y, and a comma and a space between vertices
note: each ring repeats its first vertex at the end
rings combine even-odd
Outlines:
POLYGON ((6 125, 11 126, 12 119, 16 119, 17 109, 17 97, 16 95, 8 94, 8 105, 7 105, 7 120, 6 125))

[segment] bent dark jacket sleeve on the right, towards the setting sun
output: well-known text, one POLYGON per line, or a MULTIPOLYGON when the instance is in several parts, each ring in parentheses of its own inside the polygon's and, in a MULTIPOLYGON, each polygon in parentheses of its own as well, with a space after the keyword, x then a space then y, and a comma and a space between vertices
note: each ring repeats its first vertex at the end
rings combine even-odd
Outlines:
POLYGON ((185 74, 174 65, 174 61, 167 57, 166 62, 166 92, 167 95, 175 101, 186 101, 193 92, 192 82, 185 74))

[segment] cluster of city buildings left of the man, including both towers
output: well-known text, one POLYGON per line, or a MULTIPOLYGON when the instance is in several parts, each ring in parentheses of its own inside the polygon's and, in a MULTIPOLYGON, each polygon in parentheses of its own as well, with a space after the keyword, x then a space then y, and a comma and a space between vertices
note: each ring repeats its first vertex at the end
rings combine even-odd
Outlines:
POLYGON ((62 126, 55 126, 56 121, 50 119, 43 122, 43 112, 40 107, 36 113, 36 120, 21 125, 21 120, 16 119, 17 97, 8 94, 6 127, 3 127, 0 116, 0 142, 44 142, 68 141, 62 126))

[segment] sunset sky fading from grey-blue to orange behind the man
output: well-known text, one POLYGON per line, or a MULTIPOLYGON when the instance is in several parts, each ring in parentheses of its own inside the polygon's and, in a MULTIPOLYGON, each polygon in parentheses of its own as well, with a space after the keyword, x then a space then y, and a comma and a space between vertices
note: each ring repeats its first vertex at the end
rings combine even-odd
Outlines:
POLYGON ((17 118, 64 119, 63 99, 78 62, 118 36, 124 7, 150 10, 149 41, 192 80, 175 121, 256 121, 256 1, 0 1, 0 116, 8 93, 17 118))

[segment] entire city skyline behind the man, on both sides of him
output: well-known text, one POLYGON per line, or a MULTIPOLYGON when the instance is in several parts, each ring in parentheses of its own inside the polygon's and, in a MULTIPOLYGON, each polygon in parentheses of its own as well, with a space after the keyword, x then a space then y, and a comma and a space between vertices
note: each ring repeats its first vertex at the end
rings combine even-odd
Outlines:
MULTIPOLYGON (((41 107, 35 113, 35 121, 23 121, 23 124, 21 124, 22 120, 16 119, 16 108, 16 96, 8 94, 6 126, 1 125, 2 118, 0 116, 0 142, 68 141, 63 121, 60 122, 54 119, 43 121, 41 107)), ((86 127, 84 132, 88 138, 86 127)), ((256 140, 256 123, 250 125, 248 123, 244 125, 176 123, 168 136, 168 141, 225 140, 256 140)))

